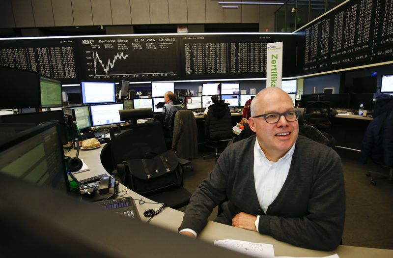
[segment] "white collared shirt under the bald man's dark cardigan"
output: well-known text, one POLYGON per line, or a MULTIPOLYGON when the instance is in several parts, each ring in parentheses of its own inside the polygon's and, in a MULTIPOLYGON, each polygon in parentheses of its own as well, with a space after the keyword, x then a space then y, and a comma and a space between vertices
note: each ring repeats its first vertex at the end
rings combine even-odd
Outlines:
MULTIPOLYGON (((291 166, 292 155, 295 151, 295 144, 277 162, 266 158, 265 153, 259 146, 258 140, 254 144, 254 182, 256 196, 259 205, 266 213, 268 207, 279 195, 282 186, 288 176, 291 166)), ((259 215, 256 218, 255 226, 258 230, 259 215)))

